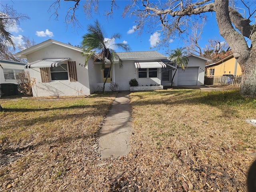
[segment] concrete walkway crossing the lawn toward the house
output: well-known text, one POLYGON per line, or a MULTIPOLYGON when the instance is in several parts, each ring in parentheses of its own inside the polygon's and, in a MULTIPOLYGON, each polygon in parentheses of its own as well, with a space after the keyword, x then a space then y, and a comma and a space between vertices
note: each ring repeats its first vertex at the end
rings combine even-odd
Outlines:
POLYGON ((109 156, 121 158, 127 155, 132 130, 129 91, 119 92, 100 131, 98 152, 101 159, 109 156))

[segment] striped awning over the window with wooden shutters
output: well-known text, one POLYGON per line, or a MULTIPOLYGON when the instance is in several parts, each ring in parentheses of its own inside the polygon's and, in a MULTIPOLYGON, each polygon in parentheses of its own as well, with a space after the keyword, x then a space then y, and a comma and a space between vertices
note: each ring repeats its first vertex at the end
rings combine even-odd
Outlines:
POLYGON ((58 67, 59 65, 65 63, 70 58, 54 58, 54 59, 42 59, 30 64, 26 64, 25 68, 48 68, 48 67, 58 67))

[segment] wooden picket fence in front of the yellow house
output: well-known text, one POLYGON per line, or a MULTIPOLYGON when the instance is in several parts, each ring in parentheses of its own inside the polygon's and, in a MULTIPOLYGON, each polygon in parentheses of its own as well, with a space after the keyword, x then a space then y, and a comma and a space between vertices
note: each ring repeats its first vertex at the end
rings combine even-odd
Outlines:
POLYGON ((205 85, 220 86, 239 86, 241 84, 241 76, 205 76, 205 85))

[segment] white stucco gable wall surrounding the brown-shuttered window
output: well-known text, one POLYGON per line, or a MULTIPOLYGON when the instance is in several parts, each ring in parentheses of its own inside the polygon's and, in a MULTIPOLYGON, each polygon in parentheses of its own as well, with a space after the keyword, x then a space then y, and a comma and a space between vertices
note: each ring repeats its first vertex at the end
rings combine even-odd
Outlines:
POLYGON ((32 54, 28 54, 27 61, 31 63, 43 58, 70 58, 69 61, 76 61, 78 81, 58 80, 42 83, 40 69, 29 69, 30 76, 36 78, 36 84, 32 88, 33 96, 80 96, 91 93, 88 66, 91 67, 92 61, 84 66, 85 57, 81 56, 81 52, 53 44, 32 54))

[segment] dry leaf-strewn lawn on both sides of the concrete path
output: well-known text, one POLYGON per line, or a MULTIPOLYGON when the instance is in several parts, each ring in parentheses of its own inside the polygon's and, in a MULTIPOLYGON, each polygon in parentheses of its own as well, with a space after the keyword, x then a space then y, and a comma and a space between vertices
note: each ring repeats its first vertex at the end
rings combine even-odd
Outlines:
POLYGON ((8 109, 0 120, 0 190, 246 191, 256 128, 245 120, 256 118, 255 99, 186 89, 130 98, 132 151, 103 162, 94 144, 112 96, 1 100, 8 109))

